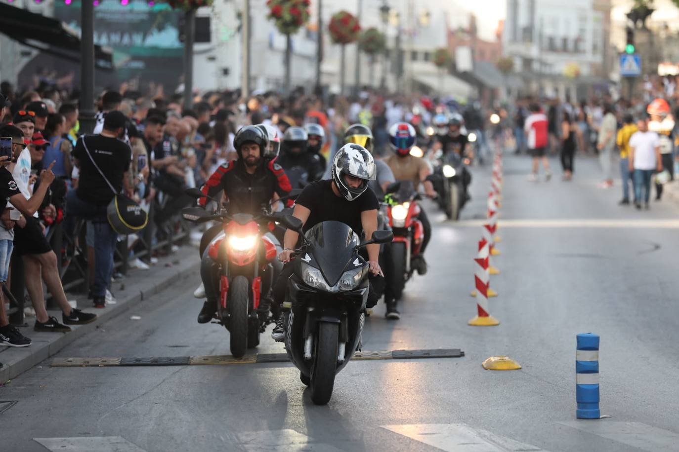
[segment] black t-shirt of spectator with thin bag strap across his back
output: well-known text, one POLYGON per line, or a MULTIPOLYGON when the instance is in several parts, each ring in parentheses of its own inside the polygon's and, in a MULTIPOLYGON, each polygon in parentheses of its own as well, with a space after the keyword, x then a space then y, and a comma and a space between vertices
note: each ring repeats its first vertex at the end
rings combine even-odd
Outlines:
POLYGON ((80 179, 76 194, 83 201, 96 205, 107 205, 113 199, 113 192, 99 171, 92 164, 88 156, 83 140, 96 165, 109 180, 115 192, 120 192, 123 186, 125 172, 130 169, 132 150, 130 146, 117 138, 109 138, 101 135, 88 135, 79 138, 73 157, 80 163, 80 179))

